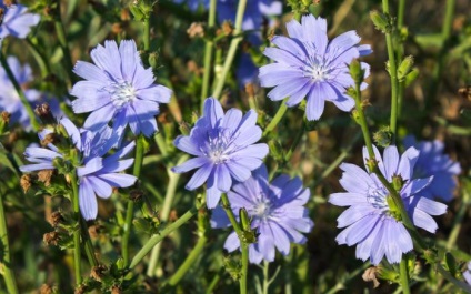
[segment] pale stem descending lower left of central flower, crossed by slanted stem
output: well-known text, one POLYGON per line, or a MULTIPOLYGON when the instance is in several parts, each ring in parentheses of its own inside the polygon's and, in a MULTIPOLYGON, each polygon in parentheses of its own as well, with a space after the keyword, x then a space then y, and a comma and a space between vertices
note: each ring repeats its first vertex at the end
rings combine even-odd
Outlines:
MULTIPOLYGON (((180 160, 178 161, 177 165, 183 163, 187 160, 188 160, 188 155, 181 156, 180 160)), ((167 192, 166 192, 166 197, 163 200, 162 210, 160 211, 160 214, 159 214, 160 220, 162 222, 167 222, 169 220, 170 210, 171 210, 172 204, 173 204, 173 199, 174 199, 174 195, 176 195, 178 181, 180 180, 179 173, 173 173, 170 169, 167 170, 167 173, 169 175, 169 184, 167 186, 167 192)), ((149 266, 148 266, 148 270, 147 270, 148 276, 153 276, 156 274, 157 264, 159 262, 160 249, 161 249, 160 243, 157 244, 157 246, 154 246, 152 249, 152 254, 150 256, 150 262, 149 262, 149 266)))

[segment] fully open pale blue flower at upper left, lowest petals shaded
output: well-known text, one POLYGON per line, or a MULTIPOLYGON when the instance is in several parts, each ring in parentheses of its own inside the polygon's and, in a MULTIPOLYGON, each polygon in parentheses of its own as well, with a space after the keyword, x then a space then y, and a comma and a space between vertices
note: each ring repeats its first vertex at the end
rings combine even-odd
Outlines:
POLYGON ((152 69, 144 69, 133 40, 106 41, 91 51, 94 64, 78 61, 73 72, 86 79, 73 85, 76 113, 91 112, 83 128, 101 130, 111 120, 122 133, 129 124, 134 134, 157 132, 159 103, 168 103, 171 90, 154 84, 152 69))

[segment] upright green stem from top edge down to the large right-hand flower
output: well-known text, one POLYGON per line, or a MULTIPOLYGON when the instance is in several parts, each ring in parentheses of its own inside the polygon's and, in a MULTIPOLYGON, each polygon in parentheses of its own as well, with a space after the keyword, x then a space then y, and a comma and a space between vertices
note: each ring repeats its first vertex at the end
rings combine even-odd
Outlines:
MULTIPOLYGON (((383 12, 389 14, 389 1, 382 0, 383 12)), ((392 33, 385 33, 385 44, 388 48, 389 74, 391 77, 391 119, 390 129, 392 133, 392 142, 395 142, 398 129, 398 67, 394 57, 394 48, 392 45, 392 33)))

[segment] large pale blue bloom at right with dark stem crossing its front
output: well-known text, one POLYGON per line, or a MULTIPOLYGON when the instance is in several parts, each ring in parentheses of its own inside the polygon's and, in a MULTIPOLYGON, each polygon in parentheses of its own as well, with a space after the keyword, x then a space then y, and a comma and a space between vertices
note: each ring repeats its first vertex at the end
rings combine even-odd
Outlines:
MULTIPOLYGON (((391 145, 384 150, 383 159, 375 148, 374 153, 378 168, 390 183, 393 178, 404 181, 399 194, 413 224, 434 233, 438 225, 430 215, 445 213, 447 205, 420 195, 432 181, 432 176, 412 178, 419 156, 417 149, 410 148, 400 156, 398 149, 391 145)), ((363 159, 367 162, 365 148, 363 159)), ((337 220, 338 227, 347 227, 337 236, 337 242, 349 246, 358 244, 357 257, 363 261, 370 258, 374 265, 378 265, 384 255, 389 263, 399 263, 402 253, 411 251, 413 245, 398 211, 388 203, 391 196, 387 187, 375 174, 368 174, 354 164, 342 163, 340 169, 343 171, 340 184, 347 192, 331 194, 329 202, 350 207, 337 220)))

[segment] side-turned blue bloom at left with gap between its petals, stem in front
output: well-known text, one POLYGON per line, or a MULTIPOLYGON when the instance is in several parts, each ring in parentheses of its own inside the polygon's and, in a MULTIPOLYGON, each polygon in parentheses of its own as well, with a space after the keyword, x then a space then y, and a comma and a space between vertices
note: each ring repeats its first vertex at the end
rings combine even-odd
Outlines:
MULTIPOLYGON (((66 129, 73 146, 80 152, 81 162, 77 166, 79 179, 79 205, 86 220, 93 220, 98 214, 97 196, 108 199, 113 187, 127 187, 134 184, 137 178, 120 173, 132 165, 133 159, 122 160, 134 148, 134 142, 104 158, 110 149, 116 145, 119 136, 112 134, 108 126, 100 132, 83 130, 82 133, 69 119, 61 119, 60 124, 66 129)), ((41 141, 52 131, 44 129, 39 133, 41 141)), ((22 172, 40 170, 54 170, 53 160, 61 158, 70 160, 69 151, 59 150, 52 143, 46 148, 27 148, 24 156, 33 164, 20 168, 22 172)))

